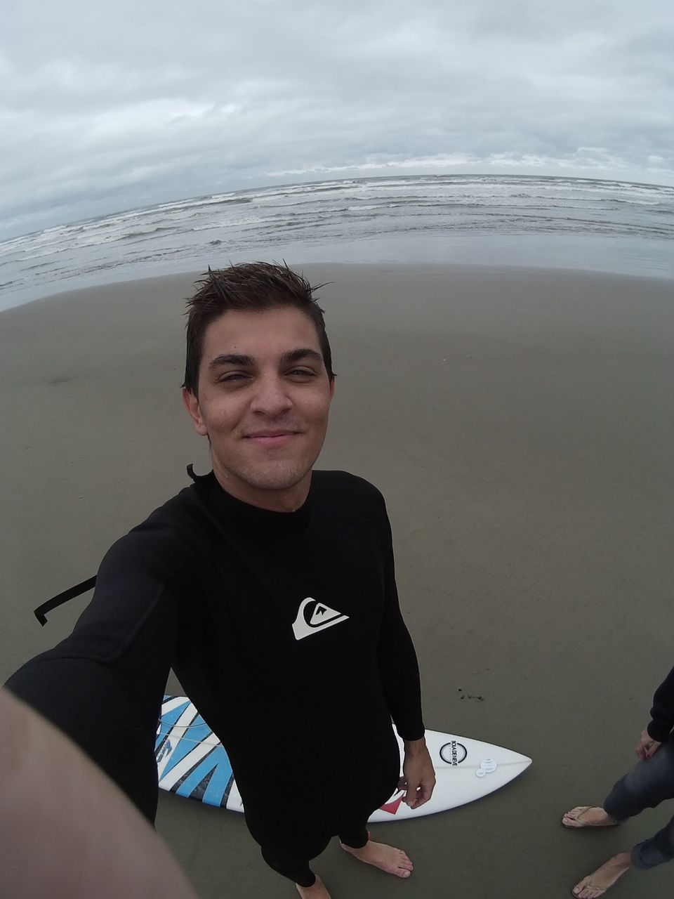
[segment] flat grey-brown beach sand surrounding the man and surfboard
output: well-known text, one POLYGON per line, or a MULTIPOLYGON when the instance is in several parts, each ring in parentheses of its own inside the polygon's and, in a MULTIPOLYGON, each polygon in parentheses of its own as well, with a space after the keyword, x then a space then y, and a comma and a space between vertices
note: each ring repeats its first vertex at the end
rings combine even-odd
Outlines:
MULTIPOLYGON (((399 882, 333 842, 343 896, 563 897, 674 811, 566 832, 634 759, 674 663, 672 282, 599 274, 318 265, 338 373, 319 467, 368 477, 395 534, 429 727, 533 758, 455 811, 373 828, 399 882), (470 698, 470 697, 473 697, 470 698), (477 699, 477 698, 480 699, 477 699)), ((0 315, 0 676, 72 628, 107 547, 208 470, 182 407, 193 275, 64 294, 0 315)), ((170 690, 177 690, 174 679, 170 690)), ((282 772, 279 772, 282 777, 282 772)), ((160 797, 157 827, 204 899, 291 896, 241 815, 160 797)), ((674 866, 611 895, 665 895, 674 866)))

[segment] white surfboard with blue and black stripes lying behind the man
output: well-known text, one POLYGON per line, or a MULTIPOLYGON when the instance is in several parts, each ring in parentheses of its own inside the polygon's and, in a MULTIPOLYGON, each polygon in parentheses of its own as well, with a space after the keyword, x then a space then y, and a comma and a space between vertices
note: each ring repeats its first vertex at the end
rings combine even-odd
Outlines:
MULTIPOLYGON (((402 770, 403 741, 396 739, 402 770)), ((370 822, 402 821, 464 806, 505 786, 531 764, 519 752, 439 731, 427 730, 426 744, 437 779, 433 796, 412 810, 403 802, 404 790, 396 790, 370 815, 370 822)), ((164 696, 155 757, 160 788, 208 806, 244 811, 225 749, 187 697, 164 696)))

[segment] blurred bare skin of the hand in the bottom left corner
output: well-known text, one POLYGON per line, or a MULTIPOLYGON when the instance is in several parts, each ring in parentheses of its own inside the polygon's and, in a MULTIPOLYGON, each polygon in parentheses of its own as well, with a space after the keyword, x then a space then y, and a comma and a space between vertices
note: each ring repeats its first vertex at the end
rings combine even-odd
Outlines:
POLYGON ((13 899, 196 899, 164 843, 102 771, 0 690, 0 870, 13 899))

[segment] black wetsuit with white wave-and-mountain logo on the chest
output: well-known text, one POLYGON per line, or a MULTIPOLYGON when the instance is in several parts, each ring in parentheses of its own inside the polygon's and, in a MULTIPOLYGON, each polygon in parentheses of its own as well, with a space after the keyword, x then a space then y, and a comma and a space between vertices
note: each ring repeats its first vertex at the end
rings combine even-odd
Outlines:
POLYGON ((268 854, 313 858, 365 822, 395 790, 391 718, 404 739, 424 732, 377 489, 315 472, 306 503, 284 513, 197 478, 111 547, 72 635, 8 686, 152 819, 172 665, 268 854))

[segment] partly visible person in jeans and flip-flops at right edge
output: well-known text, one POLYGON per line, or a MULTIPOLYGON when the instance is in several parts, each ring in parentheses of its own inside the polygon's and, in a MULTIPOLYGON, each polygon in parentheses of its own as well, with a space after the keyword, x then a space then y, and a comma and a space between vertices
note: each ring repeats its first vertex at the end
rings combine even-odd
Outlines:
MULTIPOLYGON (((564 827, 612 827, 674 798, 674 668, 653 697, 651 721, 639 737, 639 761, 619 779, 603 806, 576 806, 564 814, 564 827)), ((674 817, 661 831, 620 852, 572 889, 579 899, 597 899, 629 868, 655 868, 674 859, 674 817)))

